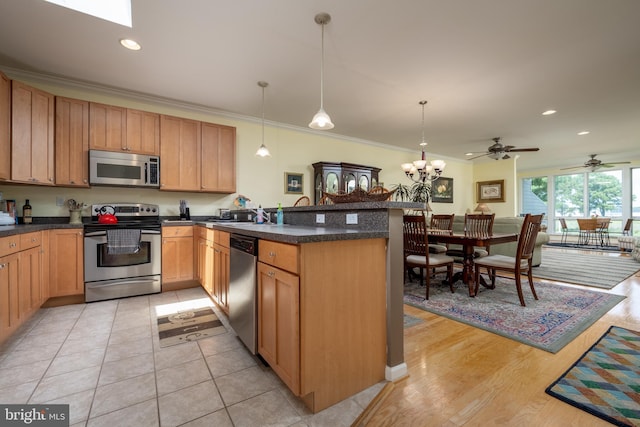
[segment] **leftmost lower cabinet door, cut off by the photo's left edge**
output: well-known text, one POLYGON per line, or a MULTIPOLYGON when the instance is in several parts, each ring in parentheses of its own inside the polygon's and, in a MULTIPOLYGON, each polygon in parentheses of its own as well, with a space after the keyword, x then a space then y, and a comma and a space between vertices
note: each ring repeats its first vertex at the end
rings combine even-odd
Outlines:
POLYGON ((20 321, 18 300, 19 254, 0 257, 0 342, 20 321))

